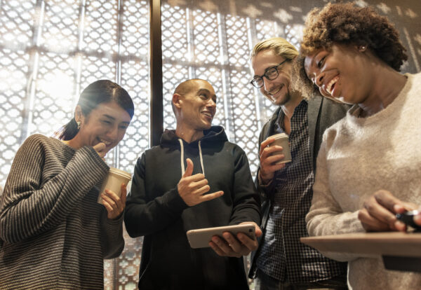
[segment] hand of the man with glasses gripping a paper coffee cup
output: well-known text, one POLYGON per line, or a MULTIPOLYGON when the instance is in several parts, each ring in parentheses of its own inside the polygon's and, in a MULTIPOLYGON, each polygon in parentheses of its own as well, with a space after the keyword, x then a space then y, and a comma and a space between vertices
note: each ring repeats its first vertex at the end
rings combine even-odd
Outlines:
POLYGON ((274 174, 276 170, 281 170, 285 167, 285 163, 275 164, 279 160, 285 158, 283 154, 271 156, 272 153, 277 151, 282 151, 282 146, 268 146, 271 144, 275 139, 272 137, 268 137, 265 141, 262 141, 260 144, 260 180, 263 184, 268 184, 274 178, 274 174))

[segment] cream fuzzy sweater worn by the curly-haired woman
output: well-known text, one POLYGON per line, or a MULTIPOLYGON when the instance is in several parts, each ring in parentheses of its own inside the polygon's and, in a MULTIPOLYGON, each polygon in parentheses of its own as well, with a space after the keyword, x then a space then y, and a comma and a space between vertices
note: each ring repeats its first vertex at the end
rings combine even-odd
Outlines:
MULTIPOLYGON (((421 205, 421 74, 406 76, 386 109, 357 118, 360 108, 353 106, 323 134, 306 217, 309 235, 364 232, 358 211, 380 189, 421 205)), ((421 273, 385 270, 380 257, 323 254, 349 261, 350 289, 421 288, 421 273)))

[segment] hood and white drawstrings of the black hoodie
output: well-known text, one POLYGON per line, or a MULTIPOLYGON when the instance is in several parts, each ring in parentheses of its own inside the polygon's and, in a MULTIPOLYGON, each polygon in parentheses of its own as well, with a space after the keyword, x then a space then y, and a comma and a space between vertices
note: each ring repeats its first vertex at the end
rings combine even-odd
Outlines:
POLYGON ((185 146, 199 149, 200 165, 203 175, 205 167, 203 165, 202 146, 204 148, 218 143, 228 141, 227 134, 221 126, 212 126, 209 130, 203 130, 204 136, 200 139, 187 143, 175 134, 175 130, 165 130, 161 136, 161 146, 168 148, 180 148, 181 176, 185 173, 185 146))

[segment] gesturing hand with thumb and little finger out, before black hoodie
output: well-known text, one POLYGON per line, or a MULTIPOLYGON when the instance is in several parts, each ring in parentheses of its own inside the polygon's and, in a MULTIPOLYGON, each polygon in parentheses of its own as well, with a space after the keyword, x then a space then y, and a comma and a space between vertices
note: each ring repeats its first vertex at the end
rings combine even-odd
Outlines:
POLYGON ((186 205, 192 207, 194 205, 199 205, 201 202, 208 200, 213 200, 214 198, 219 198, 224 194, 223 191, 217 191, 216 193, 209 193, 204 195, 210 190, 208 186, 208 180, 205 179, 205 176, 201 173, 193 173, 193 162, 187 158, 187 168, 180 181, 178 182, 178 193, 186 205))

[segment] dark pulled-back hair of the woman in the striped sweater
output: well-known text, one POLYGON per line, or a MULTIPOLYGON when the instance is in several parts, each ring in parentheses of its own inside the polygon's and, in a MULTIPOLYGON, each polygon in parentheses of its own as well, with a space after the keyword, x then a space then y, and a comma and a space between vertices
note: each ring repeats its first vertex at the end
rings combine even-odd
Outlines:
MULTIPOLYGON (((119 104, 133 118, 135 111, 133 100, 126 90, 112 81, 94 81, 83 90, 77 104, 81 106, 83 116, 88 116, 99 104, 113 101, 119 104)), ((77 132, 79 132, 79 129, 76 120, 72 118, 56 134, 58 139, 70 140, 76 136, 77 132)))

